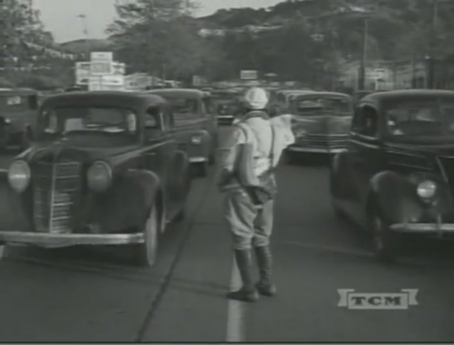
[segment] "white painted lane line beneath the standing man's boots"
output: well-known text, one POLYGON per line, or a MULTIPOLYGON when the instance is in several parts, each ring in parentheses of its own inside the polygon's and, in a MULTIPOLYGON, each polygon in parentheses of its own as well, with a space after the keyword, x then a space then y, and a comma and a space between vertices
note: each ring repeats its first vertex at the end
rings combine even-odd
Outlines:
MULTIPOLYGON (((241 288, 241 276, 236 267, 235 258, 232 262, 231 291, 241 288)), ((245 308, 240 301, 229 300, 227 308, 227 336, 226 342, 245 342, 245 308)))

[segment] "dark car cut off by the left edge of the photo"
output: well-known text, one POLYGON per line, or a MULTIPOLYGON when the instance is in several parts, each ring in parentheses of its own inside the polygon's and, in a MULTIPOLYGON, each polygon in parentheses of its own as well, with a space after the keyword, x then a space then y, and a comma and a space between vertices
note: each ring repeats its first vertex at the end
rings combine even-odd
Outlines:
POLYGON ((20 145, 25 150, 33 139, 38 94, 32 89, 0 89, 0 150, 20 145))

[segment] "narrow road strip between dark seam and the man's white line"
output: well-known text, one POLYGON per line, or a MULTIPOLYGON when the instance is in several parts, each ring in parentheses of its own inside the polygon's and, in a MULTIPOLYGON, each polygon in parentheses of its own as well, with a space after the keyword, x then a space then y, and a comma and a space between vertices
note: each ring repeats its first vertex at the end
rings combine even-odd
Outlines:
MULTIPOLYGON (((231 129, 220 128, 220 142, 231 129)), ((145 342, 225 342, 233 251, 216 176, 195 216, 182 260, 150 321, 145 342)))

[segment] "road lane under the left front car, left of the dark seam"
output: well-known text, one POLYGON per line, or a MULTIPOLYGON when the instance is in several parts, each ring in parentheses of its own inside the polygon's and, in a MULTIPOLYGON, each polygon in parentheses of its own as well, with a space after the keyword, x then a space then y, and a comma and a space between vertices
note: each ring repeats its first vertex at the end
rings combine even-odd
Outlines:
POLYGON ((125 247, 8 247, 0 263, 0 342, 135 342, 189 238, 209 185, 195 179, 186 222, 171 224, 155 267, 125 247))

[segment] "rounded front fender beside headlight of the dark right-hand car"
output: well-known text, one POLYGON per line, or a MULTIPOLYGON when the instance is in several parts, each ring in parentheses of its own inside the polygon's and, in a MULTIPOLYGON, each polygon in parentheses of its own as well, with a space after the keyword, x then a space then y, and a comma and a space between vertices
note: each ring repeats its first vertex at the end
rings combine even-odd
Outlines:
MULTIPOLYGON (((436 176, 437 184, 444 184, 436 176)), ((385 220, 390 223, 414 222, 428 211, 443 212, 451 208, 451 197, 448 188, 438 188, 437 204, 426 206, 417 195, 417 183, 409 176, 394 171, 383 171, 370 180, 369 192, 365 203, 366 213, 378 208, 385 220)))

